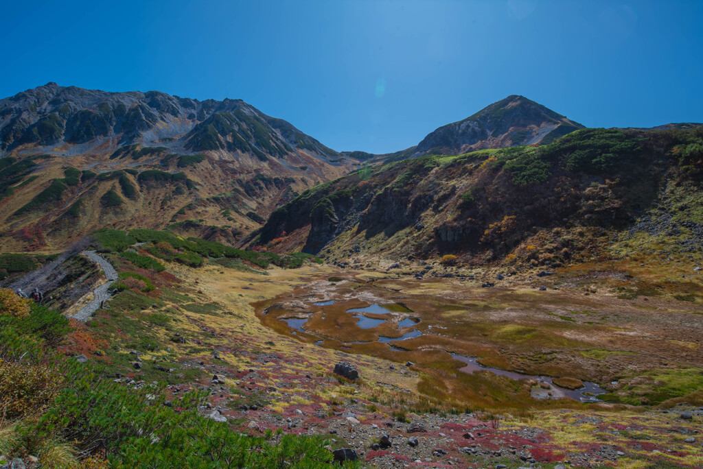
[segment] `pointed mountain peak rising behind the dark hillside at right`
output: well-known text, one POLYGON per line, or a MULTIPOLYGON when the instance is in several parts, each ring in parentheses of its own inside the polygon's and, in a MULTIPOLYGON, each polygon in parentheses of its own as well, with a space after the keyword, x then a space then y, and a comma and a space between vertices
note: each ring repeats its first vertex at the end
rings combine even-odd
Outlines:
POLYGON ((522 95, 509 95, 463 121, 437 128, 420 142, 414 155, 548 143, 579 128, 583 126, 548 107, 522 95))

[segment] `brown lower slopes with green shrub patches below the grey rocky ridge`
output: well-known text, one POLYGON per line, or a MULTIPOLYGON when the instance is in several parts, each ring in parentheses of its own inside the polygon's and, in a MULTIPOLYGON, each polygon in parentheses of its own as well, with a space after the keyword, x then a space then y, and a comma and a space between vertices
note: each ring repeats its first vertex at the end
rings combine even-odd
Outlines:
MULTIPOLYGON (((65 150, 70 150, 69 144, 56 151, 65 150)), ((4 234, 0 246, 4 251, 61 249, 106 226, 164 228, 188 220, 189 234, 234 243, 259 227, 247 212, 266 216, 279 200, 286 201, 346 171, 321 162, 316 166, 319 171, 308 174, 247 157, 235 162, 221 155, 205 159, 164 151, 139 159, 129 154, 110 159, 110 154, 98 151, 39 159, 13 154, 4 158, 14 161, 4 169, 12 171, 12 177, 0 178, 0 233, 4 234), (77 178, 75 171, 84 169, 89 171, 77 178), (183 172, 188 180, 140 180, 138 173, 154 170, 183 172)))

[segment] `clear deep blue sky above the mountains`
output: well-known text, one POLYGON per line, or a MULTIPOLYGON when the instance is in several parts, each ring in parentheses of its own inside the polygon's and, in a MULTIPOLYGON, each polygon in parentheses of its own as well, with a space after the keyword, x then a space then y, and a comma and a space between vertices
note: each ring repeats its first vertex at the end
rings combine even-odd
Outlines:
POLYGON ((521 94, 586 126, 703 121, 703 1, 7 1, 0 96, 241 98, 392 152, 521 94))

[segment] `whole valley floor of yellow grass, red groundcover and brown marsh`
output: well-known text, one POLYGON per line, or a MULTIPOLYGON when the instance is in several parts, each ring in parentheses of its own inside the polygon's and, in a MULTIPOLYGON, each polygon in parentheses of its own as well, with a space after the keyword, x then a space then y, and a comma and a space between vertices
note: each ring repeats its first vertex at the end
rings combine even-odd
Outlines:
POLYGON ((159 297, 124 291, 79 326, 96 340, 77 341, 75 352, 132 388, 165 381, 174 396, 208 389, 202 413, 239 431, 328 435, 331 448, 356 449, 364 464, 387 468, 703 465, 697 303, 593 293, 591 276, 566 270, 538 279, 547 291, 527 275, 481 289, 323 265, 262 275, 171 264, 169 272, 159 297), (314 305, 328 301, 335 303, 314 305), (376 329, 346 312, 377 303, 411 312, 397 308, 376 329), (408 329, 397 324, 408 317, 420 319, 421 336, 394 342, 399 350, 378 342, 399 338, 408 329), (307 324, 291 329, 286 318, 307 324), (461 373, 449 352, 498 369, 595 381, 609 402, 533 399, 539 383, 461 373), (332 373, 341 361, 356 366, 359 380, 332 373))

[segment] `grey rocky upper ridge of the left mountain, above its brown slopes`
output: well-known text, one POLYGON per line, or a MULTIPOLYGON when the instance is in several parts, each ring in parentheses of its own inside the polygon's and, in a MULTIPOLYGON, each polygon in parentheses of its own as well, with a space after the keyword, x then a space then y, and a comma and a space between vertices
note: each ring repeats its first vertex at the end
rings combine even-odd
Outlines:
MULTIPOLYGON (((227 150, 286 157, 307 150, 319 159, 337 152, 243 100, 199 101, 159 91, 108 93, 49 83, 0 100, 0 151, 21 145, 45 150, 61 143, 97 147, 138 143, 170 150, 227 150)), ((86 150, 82 147, 79 150, 86 150)))

